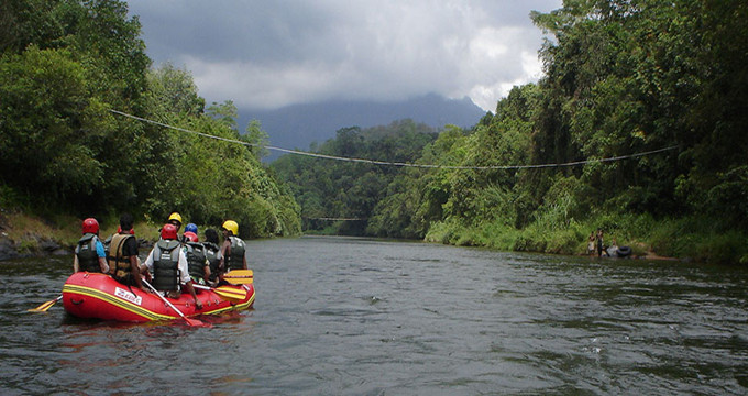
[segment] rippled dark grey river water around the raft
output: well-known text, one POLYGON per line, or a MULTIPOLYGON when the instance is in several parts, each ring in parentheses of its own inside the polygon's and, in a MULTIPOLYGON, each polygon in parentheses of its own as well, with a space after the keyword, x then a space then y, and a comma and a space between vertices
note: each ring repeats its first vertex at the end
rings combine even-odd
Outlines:
POLYGON ((0 263, 0 394, 748 393, 745 268, 350 238, 249 249, 255 307, 210 329, 28 312, 72 257, 0 263))

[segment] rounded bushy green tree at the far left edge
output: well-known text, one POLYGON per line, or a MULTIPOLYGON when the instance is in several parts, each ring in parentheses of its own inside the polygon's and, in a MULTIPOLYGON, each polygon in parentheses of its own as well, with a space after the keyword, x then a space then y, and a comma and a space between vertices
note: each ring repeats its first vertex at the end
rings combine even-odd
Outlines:
POLYGON ((65 50, 32 45, 0 59, 6 183, 47 204, 100 193, 102 106, 87 86, 82 66, 65 50))

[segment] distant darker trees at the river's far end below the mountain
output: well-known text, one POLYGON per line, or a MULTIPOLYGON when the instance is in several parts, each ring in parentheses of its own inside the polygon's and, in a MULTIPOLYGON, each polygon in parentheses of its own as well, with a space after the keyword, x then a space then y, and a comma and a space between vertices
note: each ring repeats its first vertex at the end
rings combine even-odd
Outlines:
MULTIPOLYGON (((328 156, 408 163, 436 138, 432 128, 403 120, 365 130, 343 128, 334 139, 319 146, 312 144, 312 151, 328 156)), ((397 237, 408 232, 407 223, 384 224, 372 219, 375 207, 396 188, 393 179, 399 173, 397 167, 285 155, 273 163, 273 168, 293 186, 307 231, 397 237)))

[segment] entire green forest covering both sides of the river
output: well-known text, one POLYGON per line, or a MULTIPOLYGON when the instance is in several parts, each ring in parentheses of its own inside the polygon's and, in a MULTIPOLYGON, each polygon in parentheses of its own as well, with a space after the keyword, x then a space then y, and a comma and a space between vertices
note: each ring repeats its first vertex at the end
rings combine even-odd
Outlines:
POLYGON ((564 0, 529 18, 544 75, 471 129, 346 127, 261 160, 261 122, 154 67, 113 0, 0 2, 0 207, 157 222, 233 218, 244 238, 327 232, 748 263, 748 3, 564 0), (122 117, 120 111, 206 139, 122 117), (407 163, 414 166, 403 166, 407 163), (345 220, 340 220, 345 219, 345 220))

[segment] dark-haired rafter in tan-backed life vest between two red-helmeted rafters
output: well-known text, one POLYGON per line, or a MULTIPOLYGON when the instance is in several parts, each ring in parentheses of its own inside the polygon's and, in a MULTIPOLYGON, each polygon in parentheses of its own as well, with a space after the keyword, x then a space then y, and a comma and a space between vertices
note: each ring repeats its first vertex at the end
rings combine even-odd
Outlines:
POLYGON ((122 213, 120 216, 119 232, 112 235, 109 244, 109 255, 107 262, 111 275, 119 283, 127 286, 135 286, 141 290, 147 292, 141 282, 141 268, 138 262, 138 239, 132 224, 132 215, 122 213))

